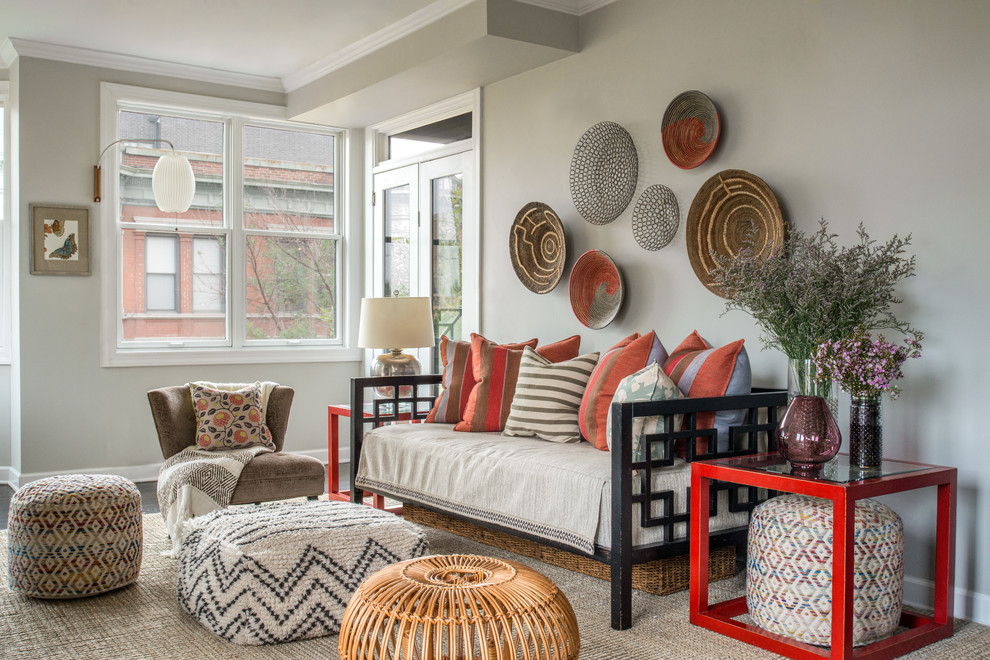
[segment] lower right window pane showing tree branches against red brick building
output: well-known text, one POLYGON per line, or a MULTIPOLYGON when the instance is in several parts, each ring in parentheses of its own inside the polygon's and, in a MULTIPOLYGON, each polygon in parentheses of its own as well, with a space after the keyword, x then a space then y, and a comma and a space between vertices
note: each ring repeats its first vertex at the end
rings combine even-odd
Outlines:
POLYGON ((334 339, 337 241, 248 236, 248 339, 334 339))

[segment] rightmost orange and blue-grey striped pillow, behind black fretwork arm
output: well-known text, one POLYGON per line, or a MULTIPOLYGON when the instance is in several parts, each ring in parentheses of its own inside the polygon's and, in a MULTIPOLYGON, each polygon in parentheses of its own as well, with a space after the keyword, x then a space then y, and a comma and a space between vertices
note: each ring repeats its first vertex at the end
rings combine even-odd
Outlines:
MULTIPOLYGON (((753 389, 753 373, 742 339, 713 348, 695 330, 664 362, 663 371, 691 398, 736 396, 753 389)), ((698 413, 696 428, 718 430, 718 450, 729 448, 729 427, 741 424, 745 410, 698 413)), ((707 443, 697 443, 707 452, 707 443)))

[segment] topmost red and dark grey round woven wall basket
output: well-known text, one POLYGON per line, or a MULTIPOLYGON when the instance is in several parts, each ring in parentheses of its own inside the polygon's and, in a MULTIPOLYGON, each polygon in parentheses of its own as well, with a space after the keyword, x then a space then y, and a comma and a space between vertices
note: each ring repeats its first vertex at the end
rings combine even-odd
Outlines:
POLYGON ((674 97, 663 113, 661 141, 674 165, 689 170, 708 160, 721 130, 718 111, 701 92, 683 92, 674 97))

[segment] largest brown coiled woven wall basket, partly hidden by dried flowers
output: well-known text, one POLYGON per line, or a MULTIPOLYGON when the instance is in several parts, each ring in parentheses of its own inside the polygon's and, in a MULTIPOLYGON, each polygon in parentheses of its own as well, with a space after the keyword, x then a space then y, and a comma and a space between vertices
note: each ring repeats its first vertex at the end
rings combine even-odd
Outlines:
POLYGON ((712 252, 731 259, 752 245, 755 257, 766 257, 783 244, 784 231, 780 204, 770 186, 749 172, 723 170, 705 181, 688 211, 685 233, 694 274, 709 291, 726 298, 712 284, 711 273, 718 265, 712 252))

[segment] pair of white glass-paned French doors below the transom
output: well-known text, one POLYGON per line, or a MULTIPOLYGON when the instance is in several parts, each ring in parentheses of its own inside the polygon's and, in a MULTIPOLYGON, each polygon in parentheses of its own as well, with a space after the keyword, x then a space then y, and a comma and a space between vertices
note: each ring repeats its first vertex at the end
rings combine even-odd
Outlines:
POLYGON ((477 194, 470 189, 472 166, 466 151, 374 175, 373 295, 431 298, 436 344, 416 352, 424 372, 439 373, 434 349, 441 335, 460 340, 475 330, 466 321, 477 318, 470 313, 476 287, 465 277, 474 270, 465 263, 473 251, 464 249, 465 235, 477 232, 470 217, 475 205, 465 203, 477 194), (472 300, 465 301, 465 290, 472 300))

